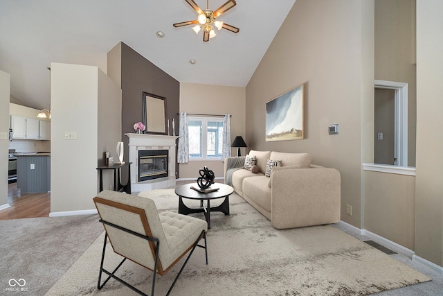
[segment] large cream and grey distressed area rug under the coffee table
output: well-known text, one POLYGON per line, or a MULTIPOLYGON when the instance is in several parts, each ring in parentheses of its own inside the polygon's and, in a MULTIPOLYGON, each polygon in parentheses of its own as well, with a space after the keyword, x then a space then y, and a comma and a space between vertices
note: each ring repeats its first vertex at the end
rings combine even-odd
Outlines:
MULTIPOLYGON (((177 211, 173 190, 144 194, 160 211, 177 211)), ((235 193, 230 215, 211 213, 211 227, 209 264, 198 248, 171 295, 368 295, 431 280, 333 225, 275 229, 235 193)), ((46 295, 136 295, 113 279, 102 290, 96 288, 103 239, 104 234, 46 295)), ((119 261, 109 247, 105 267, 119 261)), ((157 276, 156 295, 166 294, 182 262, 157 276)), ((118 275, 150 293, 150 270, 125 262, 118 275)))

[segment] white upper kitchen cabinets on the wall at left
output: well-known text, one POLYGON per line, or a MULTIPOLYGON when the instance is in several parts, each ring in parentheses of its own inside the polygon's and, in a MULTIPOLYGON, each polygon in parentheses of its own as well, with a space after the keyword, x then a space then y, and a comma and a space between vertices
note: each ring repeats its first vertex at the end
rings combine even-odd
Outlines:
POLYGON ((51 139, 51 122, 11 115, 12 139, 51 139))

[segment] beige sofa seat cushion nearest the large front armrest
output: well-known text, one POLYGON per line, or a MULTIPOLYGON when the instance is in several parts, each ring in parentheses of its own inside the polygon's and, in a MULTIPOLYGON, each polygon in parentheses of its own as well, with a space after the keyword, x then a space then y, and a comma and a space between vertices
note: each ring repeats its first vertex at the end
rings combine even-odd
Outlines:
POLYGON ((247 177, 243 180, 243 194, 266 211, 271 211, 271 189, 268 187, 268 180, 264 175, 247 177))

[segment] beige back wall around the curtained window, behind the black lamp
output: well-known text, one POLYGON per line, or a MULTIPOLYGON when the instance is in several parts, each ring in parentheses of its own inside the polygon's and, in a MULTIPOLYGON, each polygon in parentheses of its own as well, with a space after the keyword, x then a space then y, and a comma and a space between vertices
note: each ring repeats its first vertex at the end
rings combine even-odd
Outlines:
MULTIPOLYGON (((180 112, 195 114, 226 114, 230 117, 230 141, 235 136, 245 137, 245 88, 226 87, 220 85, 201 85, 194 83, 180 84, 180 112)), ((242 155, 244 155, 242 148, 242 155)), ((232 148, 231 154, 236 155, 237 148, 232 148)), ((215 177, 223 177, 224 164, 220 161, 189 162, 180 164, 180 178, 188 179, 199 177, 199 169, 208 166, 214 171, 215 177)))

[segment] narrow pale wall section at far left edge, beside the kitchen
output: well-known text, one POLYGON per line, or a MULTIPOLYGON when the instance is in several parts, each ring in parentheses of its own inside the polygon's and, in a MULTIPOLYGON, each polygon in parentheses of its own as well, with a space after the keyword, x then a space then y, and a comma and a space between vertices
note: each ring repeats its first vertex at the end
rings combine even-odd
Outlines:
POLYGON ((0 70, 0 133, 6 139, 0 139, 0 209, 8 204, 8 131, 9 131, 9 96, 10 80, 8 73, 0 70))

